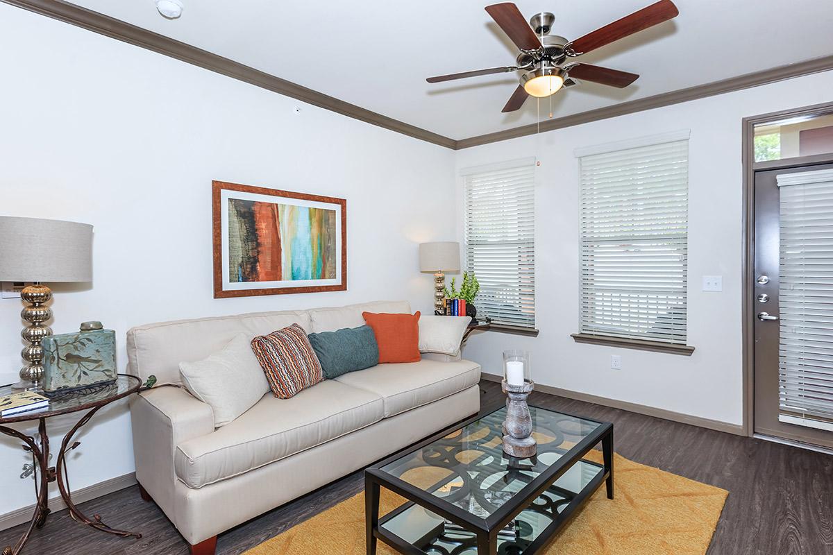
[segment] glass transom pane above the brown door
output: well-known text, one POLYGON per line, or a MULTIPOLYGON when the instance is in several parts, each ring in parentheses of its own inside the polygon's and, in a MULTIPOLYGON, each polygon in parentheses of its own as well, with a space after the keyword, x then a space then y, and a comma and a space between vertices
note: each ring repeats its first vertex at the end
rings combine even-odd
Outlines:
POLYGON ((755 126, 755 161, 833 152, 833 114, 792 117, 755 126))

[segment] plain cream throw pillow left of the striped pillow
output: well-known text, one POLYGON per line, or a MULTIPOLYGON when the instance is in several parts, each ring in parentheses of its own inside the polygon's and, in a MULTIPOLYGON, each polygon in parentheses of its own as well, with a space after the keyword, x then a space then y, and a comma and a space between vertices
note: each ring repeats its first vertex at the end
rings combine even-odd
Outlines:
POLYGON ((269 391, 246 334, 237 334, 207 359, 179 363, 179 373, 188 391, 211 405, 215 428, 251 409, 269 391))

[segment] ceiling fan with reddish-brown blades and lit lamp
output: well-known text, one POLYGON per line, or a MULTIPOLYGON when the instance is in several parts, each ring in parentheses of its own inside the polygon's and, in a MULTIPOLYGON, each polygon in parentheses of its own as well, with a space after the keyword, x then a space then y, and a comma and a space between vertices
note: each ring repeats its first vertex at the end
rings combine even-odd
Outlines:
POLYGON ((561 87, 571 87, 576 84, 571 77, 611 87, 627 87, 639 78, 636 73, 566 61, 568 58, 581 56, 635 32, 668 21, 679 13, 674 2, 660 0, 583 37, 568 41, 565 37, 549 34, 552 23, 556 20, 550 12, 536 13, 528 25, 521 11, 512 2, 487 6, 486 12, 521 49, 516 59, 517 65, 428 77, 426 81, 437 83, 520 70, 524 72, 521 75, 521 84, 512 93, 502 111, 516 111, 523 106, 526 97, 549 97, 561 87))

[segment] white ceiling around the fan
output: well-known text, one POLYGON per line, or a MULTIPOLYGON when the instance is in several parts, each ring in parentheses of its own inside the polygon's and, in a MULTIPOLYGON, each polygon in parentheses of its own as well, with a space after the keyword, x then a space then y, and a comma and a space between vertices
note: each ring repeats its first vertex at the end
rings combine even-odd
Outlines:
MULTIPOLYGON (((487 0, 183 0, 177 20, 153 0, 75 3, 429 131, 461 139, 534 123, 536 102, 501 114, 514 74, 425 78, 514 63, 487 0)), ((518 0, 556 14, 575 39, 652 0, 518 0)), ((833 53, 831 0, 675 0, 680 15, 602 47, 586 62, 641 74, 631 87, 590 82, 552 97, 554 117, 833 53)), ((550 102, 541 101, 541 118, 550 102)))

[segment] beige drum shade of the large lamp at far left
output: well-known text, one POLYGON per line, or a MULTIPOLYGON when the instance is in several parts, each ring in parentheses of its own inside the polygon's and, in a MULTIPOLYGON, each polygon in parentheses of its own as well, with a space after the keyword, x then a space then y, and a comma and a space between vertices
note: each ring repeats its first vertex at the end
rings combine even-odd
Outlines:
POLYGON ((0 216, 0 281, 92 281, 92 225, 0 216))

